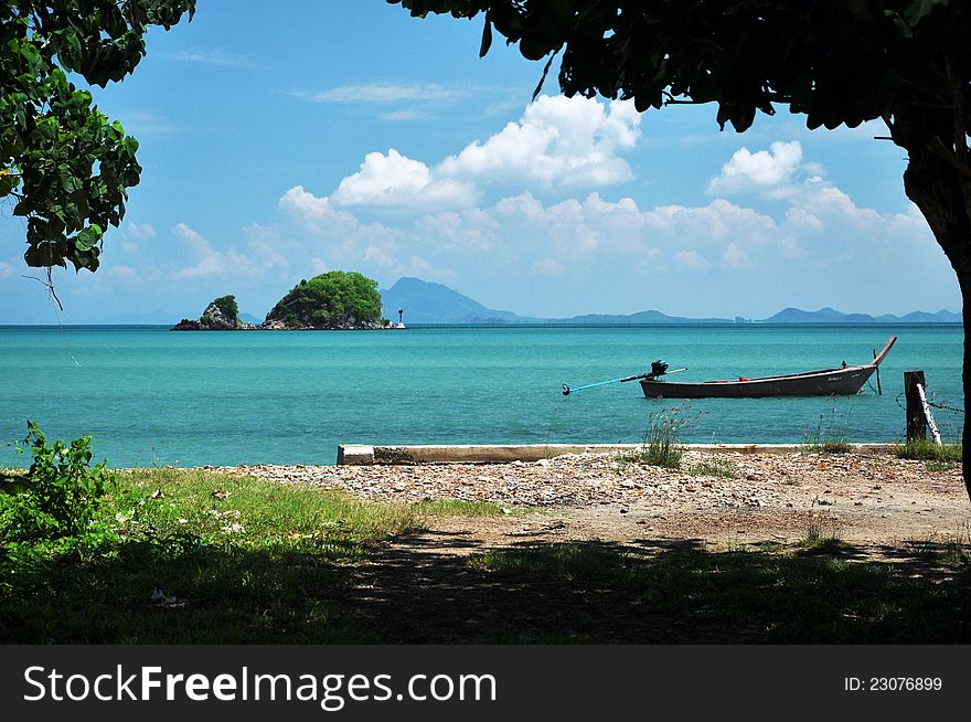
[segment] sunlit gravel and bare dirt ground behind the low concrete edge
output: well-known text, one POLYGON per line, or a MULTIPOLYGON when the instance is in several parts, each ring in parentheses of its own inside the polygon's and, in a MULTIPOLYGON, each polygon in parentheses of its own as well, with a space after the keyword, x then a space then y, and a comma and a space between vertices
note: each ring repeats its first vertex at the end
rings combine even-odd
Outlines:
POLYGON ((510 538, 709 543, 791 541, 810 533, 847 541, 969 542, 971 503, 960 467, 889 453, 786 454, 690 450, 681 469, 625 463, 617 454, 537 463, 420 466, 207 467, 285 484, 344 489, 393 501, 491 501, 500 518, 442 522, 481 541, 510 538), (730 476, 706 475, 718 465, 730 476))

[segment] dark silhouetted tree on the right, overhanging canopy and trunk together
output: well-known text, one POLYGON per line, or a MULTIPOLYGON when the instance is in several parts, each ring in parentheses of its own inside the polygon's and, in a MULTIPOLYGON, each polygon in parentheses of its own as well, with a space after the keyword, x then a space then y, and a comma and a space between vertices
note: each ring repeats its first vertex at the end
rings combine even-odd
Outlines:
MULTIPOLYGON (((724 129, 789 106, 810 129, 882 119, 908 155, 904 190, 950 261, 971 328, 971 3, 963 0, 387 0, 413 15, 484 13, 530 60, 561 55, 567 96, 637 109, 716 103, 724 129)), ((543 85, 536 88, 538 94, 543 85)), ((535 96, 534 96, 535 97, 535 96)), ((971 399, 971 335, 964 397, 971 399)), ((971 427, 964 485, 971 496, 971 427)))

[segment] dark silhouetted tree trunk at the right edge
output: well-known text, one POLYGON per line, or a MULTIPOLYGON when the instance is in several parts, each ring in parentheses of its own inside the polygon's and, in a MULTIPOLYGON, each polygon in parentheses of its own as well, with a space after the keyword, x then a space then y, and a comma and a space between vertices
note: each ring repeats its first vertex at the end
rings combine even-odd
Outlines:
MULTIPOLYGON (((971 400, 971 166, 960 155, 948 156, 926 118, 894 123, 894 141, 909 153, 904 190, 927 219, 933 236, 958 276, 964 325, 961 381, 964 403, 971 400), (937 146, 937 147, 936 147, 937 146)), ((962 477, 971 498, 971 427, 962 424, 962 477)))

